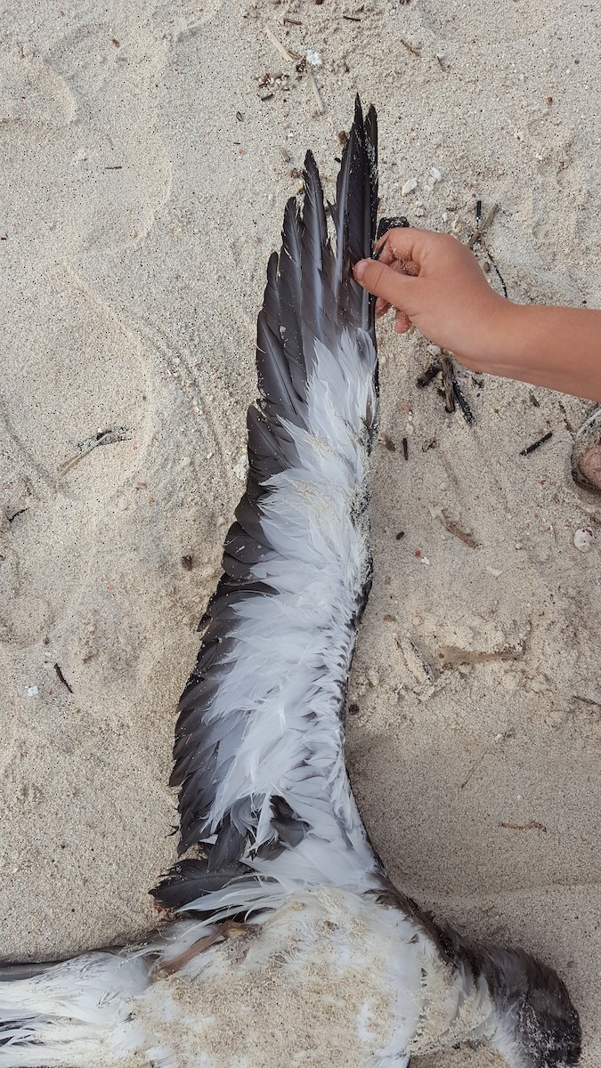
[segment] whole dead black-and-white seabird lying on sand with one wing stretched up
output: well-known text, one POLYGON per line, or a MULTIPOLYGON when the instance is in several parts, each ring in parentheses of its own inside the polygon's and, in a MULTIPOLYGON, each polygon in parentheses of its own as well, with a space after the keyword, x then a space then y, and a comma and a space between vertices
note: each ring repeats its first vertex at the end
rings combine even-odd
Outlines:
POLYGON ((576 1010, 521 949, 476 946, 389 882, 344 766, 369 592, 376 121, 357 100, 330 206, 312 155, 259 315, 249 473, 180 704, 179 917, 142 945, 4 965, 0 1068, 406 1068, 488 1039, 512 1068, 577 1063, 576 1010), (13 980, 13 981, 9 981, 13 980))

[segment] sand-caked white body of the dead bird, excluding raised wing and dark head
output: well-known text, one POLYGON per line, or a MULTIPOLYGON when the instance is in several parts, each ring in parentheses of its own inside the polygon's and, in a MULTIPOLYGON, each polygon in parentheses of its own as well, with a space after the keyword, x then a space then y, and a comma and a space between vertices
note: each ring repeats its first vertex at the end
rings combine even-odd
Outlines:
POLYGON ((0 999, 3 1015, 36 1014, 40 1051, 0 1046, 0 1068, 391 1068, 441 1036, 492 1031, 486 984, 442 965, 398 908, 334 886, 245 924, 171 924, 143 947, 4 984, 0 999))

